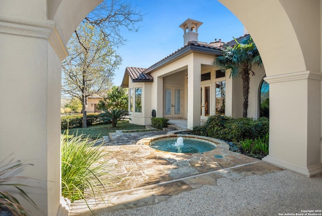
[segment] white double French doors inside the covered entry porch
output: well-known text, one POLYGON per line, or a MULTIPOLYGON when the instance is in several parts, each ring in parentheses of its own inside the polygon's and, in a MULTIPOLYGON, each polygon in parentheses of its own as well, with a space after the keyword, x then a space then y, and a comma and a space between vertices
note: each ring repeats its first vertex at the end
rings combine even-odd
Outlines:
POLYGON ((182 88, 165 87, 164 95, 164 116, 166 118, 182 117, 182 88))

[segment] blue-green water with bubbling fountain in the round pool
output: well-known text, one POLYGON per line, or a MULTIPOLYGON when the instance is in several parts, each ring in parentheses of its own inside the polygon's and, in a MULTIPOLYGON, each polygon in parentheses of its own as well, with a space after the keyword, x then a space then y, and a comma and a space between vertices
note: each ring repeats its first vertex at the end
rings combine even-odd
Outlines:
POLYGON ((183 139, 183 143, 177 139, 161 139, 153 141, 150 147, 160 151, 176 153, 203 153, 216 148, 215 145, 198 139, 183 139))

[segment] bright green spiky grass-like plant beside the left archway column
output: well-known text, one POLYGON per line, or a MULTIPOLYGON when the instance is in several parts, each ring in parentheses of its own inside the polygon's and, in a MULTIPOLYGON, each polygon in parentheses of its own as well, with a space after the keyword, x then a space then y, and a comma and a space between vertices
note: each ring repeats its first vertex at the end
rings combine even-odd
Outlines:
POLYGON ((108 175, 110 168, 104 160, 107 153, 102 152, 101 145, 97 146, 96 142, 77 134, 61 140, 61 192, 71 202, 77 199, 86 201, 88 190, 94 197, 103 195, 105 185, 114 178, 108 175))

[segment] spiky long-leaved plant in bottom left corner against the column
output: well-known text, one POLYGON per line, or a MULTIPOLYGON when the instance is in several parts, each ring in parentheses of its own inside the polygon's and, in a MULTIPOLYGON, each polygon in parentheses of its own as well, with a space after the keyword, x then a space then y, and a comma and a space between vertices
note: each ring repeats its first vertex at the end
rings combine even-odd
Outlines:
MULTIPOLYGON (((7 160, 7 158, 5 160, 7 160)), ((5 160, 1 161, 0 164, 5 163, 5 160)), ((17 174, 25 166, 28 165, 32 164, 23 164, 21 160, 10 160, 7 164, 0 166, 0 210, 4 209, 10 211, 12 215, 28 215, 27 210, 20 204, 18 199, 15 196, 13 196, 9 191, 5 191, 4 188, 17 190, 25 198, 27 198, 32 203, 34 203, 35 206, 37 206, 37 204, 21 188, 22 186, 29 186, 23 183, 29 178, 15 176, 15 174, 17 174)))

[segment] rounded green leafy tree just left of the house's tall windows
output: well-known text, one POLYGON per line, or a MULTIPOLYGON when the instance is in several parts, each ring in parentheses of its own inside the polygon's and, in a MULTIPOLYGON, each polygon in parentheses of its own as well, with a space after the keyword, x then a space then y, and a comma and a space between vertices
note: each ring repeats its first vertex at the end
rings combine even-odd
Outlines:
POLYGON ((120 86, 113 86, 112 89, 107 92, 107 96, 100 100, 99 109, 119 109, 128 110, 128 94, 127 89, 120 86))

